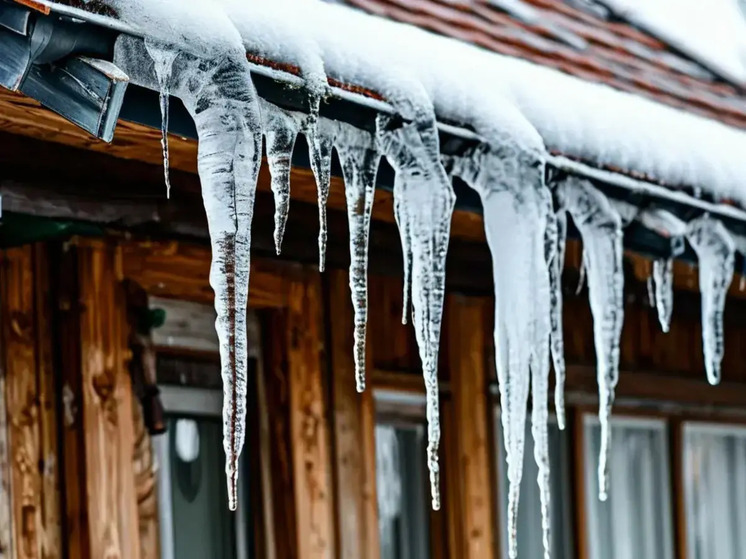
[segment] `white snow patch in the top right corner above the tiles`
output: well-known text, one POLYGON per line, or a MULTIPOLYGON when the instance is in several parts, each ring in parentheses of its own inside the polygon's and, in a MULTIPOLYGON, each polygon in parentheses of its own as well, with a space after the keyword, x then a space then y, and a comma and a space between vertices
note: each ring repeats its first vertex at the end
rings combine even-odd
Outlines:
POLYGON ((605 0, 604 4, 718 75, 746 84, 742 0, 605 0))

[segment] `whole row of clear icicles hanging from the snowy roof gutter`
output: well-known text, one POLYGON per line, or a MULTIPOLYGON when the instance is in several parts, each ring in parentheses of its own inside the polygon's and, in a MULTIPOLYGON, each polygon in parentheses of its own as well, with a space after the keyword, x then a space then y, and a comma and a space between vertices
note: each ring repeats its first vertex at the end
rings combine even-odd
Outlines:
MULTIPOLYGON (((355 315, 355 378, 365 389, 368 310, 368 234, 380 158, 396 171, 395 217, 404 254, 404 322, 412 307, 427 395, 432 506, 440 507, 438 446, 438 345, 445 291, 445 263, 455 203, 451 185, 459 176, 479 192, 495 282, 495 347, 509 478, 509 550, 517 556, 518 494, 522 475, 529 386, 532 435, 539 466, 545 558, 549 557, 549 369, 556 376, 555 411, 565 428, 562 286, 567 214, 580 232, 594 319, 599 384, 600 498, 608 494, 609 418, 619 375, 619 339, 624 314, 622 231, 632 219, 651 223, 672 239, 686 238, 699 258, 702 325, 707 376, 720 378, 722 314, 733 275, 735 243, 719 221, 703 216, 684 224, 665 212, 640 214, 606 198, 585 179, 569 177, 550 187, 543 153, 511 145, 481 145, 458 158, 441 160, 434 111, 413 121, 379 117, 375 134, 321 118, 320 98, 311 114, 280 109, 256 94, 246 64, 230 57, 210 61, 146 43, 155 62, 163 111, 163 152, 168 183, 168 97, 180 97, 199 136, 199 174, 213 247, 210 282, 215 291, 225 401, 224 448, 231 509, 237 505, 238 457, 246 414, 246 305, 251 219, 262 136, 275 199, 275 243, 280 253, 290 202, 293 148, 308 139, 318 186, 319 268, 326 249, 326 202, 336 149, 345 180, 350 229, 350 289, 355 315), (178 63, 175 60, 178 57, 178 63), (444 167, 445 163, 445 167, 444 167), (447 170, 446 170, 447 168, 447 170), (411 294, 411 299, 410 299, 411 294)), ((671 260, 656 261, 651 291, 665 331, 673 303, 671 260)))

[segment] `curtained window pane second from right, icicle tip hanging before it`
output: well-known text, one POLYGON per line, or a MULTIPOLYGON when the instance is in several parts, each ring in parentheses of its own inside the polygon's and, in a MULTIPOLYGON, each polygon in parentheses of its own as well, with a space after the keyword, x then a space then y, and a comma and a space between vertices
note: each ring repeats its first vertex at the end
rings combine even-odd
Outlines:
POLYGON ((591 559, 672 559, 670 477, 662 421, 612 419, 609 498, 598 499, 601 427, 585 422, 591 559))

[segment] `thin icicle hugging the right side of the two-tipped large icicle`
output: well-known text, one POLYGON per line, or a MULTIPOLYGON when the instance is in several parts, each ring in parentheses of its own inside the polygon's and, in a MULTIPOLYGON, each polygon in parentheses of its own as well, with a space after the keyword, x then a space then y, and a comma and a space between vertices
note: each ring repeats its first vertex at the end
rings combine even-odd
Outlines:
POLYGON ((549 265, 550 326, 552 363, 554 365, 554 409, 557 425, 565 429, 565 340, 562 331, 562 269, 564 268, 565 241, 567 237, 567 215, 564 210, 554 213, 548 208, 547 217, 547 263, 549 265))

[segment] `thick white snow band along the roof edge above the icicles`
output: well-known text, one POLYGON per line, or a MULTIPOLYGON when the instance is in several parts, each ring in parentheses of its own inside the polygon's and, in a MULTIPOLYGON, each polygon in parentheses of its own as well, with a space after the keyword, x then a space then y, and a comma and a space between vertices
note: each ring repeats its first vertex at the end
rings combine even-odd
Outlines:
POLYGON ((317 0, 111 4, 137 32, 182 48, 227 48, 240 33, 250 53, 307 76, 390 101, 416 90, 440 118, 534 143, 538 131, 551 150, 746 205, 746 133, 601 84, 317 0))

